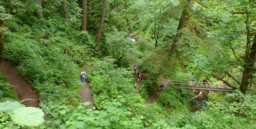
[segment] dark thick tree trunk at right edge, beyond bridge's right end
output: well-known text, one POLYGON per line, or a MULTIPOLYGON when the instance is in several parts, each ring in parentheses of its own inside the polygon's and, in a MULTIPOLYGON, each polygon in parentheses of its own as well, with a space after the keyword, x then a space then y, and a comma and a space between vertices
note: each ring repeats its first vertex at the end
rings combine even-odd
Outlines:
MULTIPOLYGON (((250 37, 250 34, 248 33, 248 37, 250 37)), ((247 39, 247 40, 250 40, 247 39)), ((256 61, 256 34, 254 35, 254 39, 252 41, 252 47, 250 49, 250 54, 249 57, 247 58, 247 62, 246 62, 246 66, 244 67, 244 71, 243 71, 243 77, 242 77, 242 81, 241 81, 241 86, 239 87, 240 91, 245 95, 248 85, 249 85, 249 81, 252 78, 252 72, 253 72, 253 67, 256 61)))

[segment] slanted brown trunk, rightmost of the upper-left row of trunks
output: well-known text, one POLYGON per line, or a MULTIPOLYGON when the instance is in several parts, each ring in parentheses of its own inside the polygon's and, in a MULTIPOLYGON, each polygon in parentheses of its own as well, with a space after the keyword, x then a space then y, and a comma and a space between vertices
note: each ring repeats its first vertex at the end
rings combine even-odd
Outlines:
POLYGON ((99 25, 99 29, 98 29, 98 32, 97 32, 96 37, 95 37, 95 42, 96 42, 95 47, 98 47, 99 42, 100 42, 100 35, 101 35, 101 32, 102 32, 102 28, 103 28, 103 24, 104 24, 104 20, 105 20, 105 16, 106 16, 106 9, 107 9, 107 0, 104 0, 103 1, 102 15, 101 15, 101 19, 100 19, 100 25, 99 25))

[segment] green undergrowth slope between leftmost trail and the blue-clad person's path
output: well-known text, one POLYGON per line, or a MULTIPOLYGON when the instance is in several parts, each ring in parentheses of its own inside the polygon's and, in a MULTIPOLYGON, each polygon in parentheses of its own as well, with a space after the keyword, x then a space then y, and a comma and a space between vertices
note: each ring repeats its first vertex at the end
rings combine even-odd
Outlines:
POLYGON ((92 37, 87 32, 71 31, 74 28, 62 18, 36 20, 37 24, 30 26, 20 25, 19 18, 14 16, 5 22, 10 31, 4 36, 4 58, 12 61, 34 87, 48 116, 56 116, 60 106, 78 106, 79 67, 89 65, 86 60, 92 53, 84 48, 92 44, 92 37), (53 29, 53 24, 67 30, 53 29))

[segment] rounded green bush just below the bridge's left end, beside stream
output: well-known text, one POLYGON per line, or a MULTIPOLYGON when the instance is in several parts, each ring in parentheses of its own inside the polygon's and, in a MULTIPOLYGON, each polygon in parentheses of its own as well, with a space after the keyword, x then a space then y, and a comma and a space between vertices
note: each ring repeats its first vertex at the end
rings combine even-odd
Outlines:
POLYGON ((188 109, 188 91, 183 88, 170 86, 165 89, 157 98, 157 102, 176 111, 188 109))

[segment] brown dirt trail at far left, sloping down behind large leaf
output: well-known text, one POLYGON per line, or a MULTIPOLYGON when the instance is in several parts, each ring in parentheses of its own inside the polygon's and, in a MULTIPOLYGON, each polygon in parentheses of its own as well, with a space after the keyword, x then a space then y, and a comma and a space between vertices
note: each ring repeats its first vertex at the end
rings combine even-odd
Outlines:
POLYGON ((1 63, 1 72, 3 73, 2 75, 7 76, 8 80, 10 80, 9 83, 13 85, 12 88, 15 89, 20 101, 28 98, 34 99, 26 100, 21 104, 24 104, 26 107, 39 107, 38 94, 36 94, 36 91, 25 81, 24 77, 17 73, 10 61, 3 59, 1 63))

